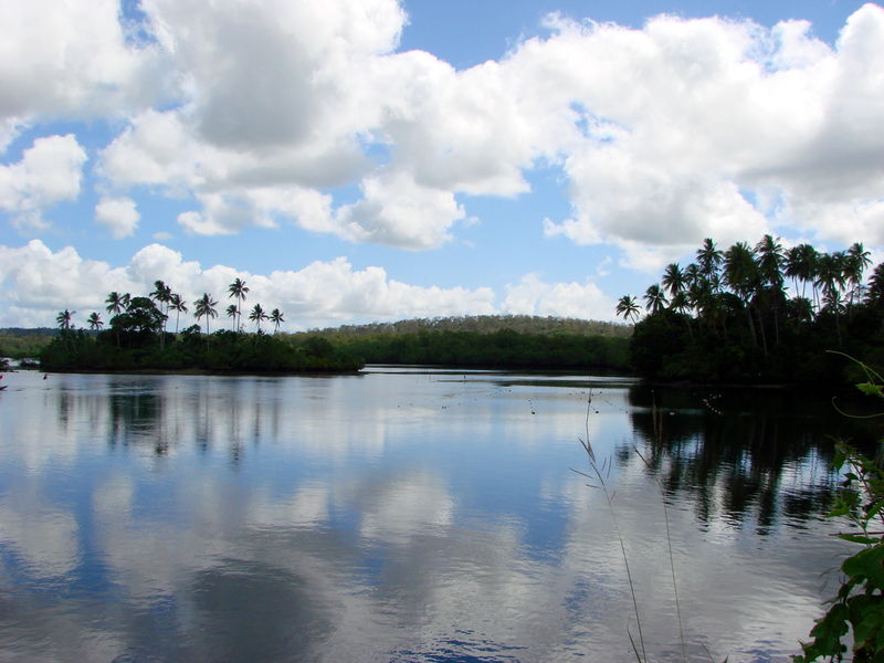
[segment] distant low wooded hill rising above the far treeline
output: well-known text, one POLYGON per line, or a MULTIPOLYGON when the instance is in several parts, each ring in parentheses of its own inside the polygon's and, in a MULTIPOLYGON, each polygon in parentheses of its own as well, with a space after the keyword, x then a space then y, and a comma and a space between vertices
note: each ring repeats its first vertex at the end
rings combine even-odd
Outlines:
POLYGON ((412 334, 422 329, 432 332, 474 332, 494 334, 504 329, 519 334, 580 334, 586 336, 632 336, 632 325, 585 320, 579 318, 541 317, 536 315, 470 315, 435 318, 414 318, 396 323, 341 325, 312 329, 302 334, 322 336, 362 336, 376 334, 412 334))

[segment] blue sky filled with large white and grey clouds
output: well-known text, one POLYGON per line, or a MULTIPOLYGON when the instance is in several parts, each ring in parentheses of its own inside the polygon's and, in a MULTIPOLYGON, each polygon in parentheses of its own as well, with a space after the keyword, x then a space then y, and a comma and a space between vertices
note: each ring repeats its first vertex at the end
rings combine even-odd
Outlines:
POLYGON ((704 238, 884 260, 876 4, 0 0, 0 327, 107 320, 157 280, 223 323, 236 277, 291 332, 609 320, 704 238))

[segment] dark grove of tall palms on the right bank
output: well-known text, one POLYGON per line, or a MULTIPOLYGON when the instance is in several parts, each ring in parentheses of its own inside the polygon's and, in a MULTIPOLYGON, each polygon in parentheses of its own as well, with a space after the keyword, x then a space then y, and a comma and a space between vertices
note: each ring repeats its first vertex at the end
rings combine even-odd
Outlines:
MULTIPOLYGON (((632 367, 659 380, 829 386, 844 378, 827 349, 884 365, 884 263, 865 283, 869 255, 859 242, 822 253, 771 235, 727 251, 707 239, 645 291, 632 367)), ((628 320, 640 311, 632 295, 617 305, 628 320)))

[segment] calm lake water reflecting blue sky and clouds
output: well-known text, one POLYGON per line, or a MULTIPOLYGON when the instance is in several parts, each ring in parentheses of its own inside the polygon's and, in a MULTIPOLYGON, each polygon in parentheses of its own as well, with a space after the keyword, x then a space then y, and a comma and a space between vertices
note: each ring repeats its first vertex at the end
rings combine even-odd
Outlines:
POLYGON ((41 378, 0 393, 4 662, 633 661, 618 529, 651 660, 682 655, 671 543, 687 659, 785 661, 848 546, 827 436, 856 431, 789 394, 41 378))

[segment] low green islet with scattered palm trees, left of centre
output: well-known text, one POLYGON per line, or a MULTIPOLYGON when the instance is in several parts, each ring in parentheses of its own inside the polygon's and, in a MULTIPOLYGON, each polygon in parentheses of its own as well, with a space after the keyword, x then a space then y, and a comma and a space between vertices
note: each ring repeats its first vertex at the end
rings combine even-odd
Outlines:
MULTIPOLYGON (((210 320, 218 316, 215 302, 204 293, 193 302, 197 319, 204 319, 206 333, 192 325, 177 332, 180 313, 187 305, 180 295, 157 281, 149 297, 133 297, 128 293, 113 292, 105 301, 113 317, 109 328, 98 313, 92 313, 87 323, 92 332, 73 328, 73 312, 62 311, 56 317, 59 332, 40 351, 42 368, 48 370, 209 370, 213 372, 314 372, 350 371, 362 367, 354 355, 336 348, 318 336, 299 338, 271 336, 261 329, 269 318, 260 304, 249 316, 255 323, 255 333, 242 330, 240 308, 236 307, 238 330, 218 330, 210 334, 210 320), (171 311, 176 312, 176 333, 166 330, 171 311)), ((245 298, 249 288, 236 280, 238 303, 245 298)), ((231 288, 233 288, 231 285, 231 288)), ((274 324, 283 314, 274 309, 274 324)))

